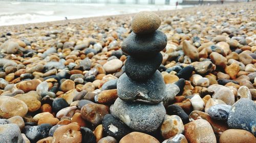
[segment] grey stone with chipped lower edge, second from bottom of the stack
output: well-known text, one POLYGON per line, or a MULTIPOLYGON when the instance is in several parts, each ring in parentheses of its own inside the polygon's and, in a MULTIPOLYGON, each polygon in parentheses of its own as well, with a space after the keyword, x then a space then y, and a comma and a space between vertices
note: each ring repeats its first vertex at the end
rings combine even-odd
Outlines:
POLYGON ((145 81, 132 80, 125 73, 117 80, 117 95, 124 101, 160 103, 165 97, 165 90, 165 83, 159 71, 145 81))

